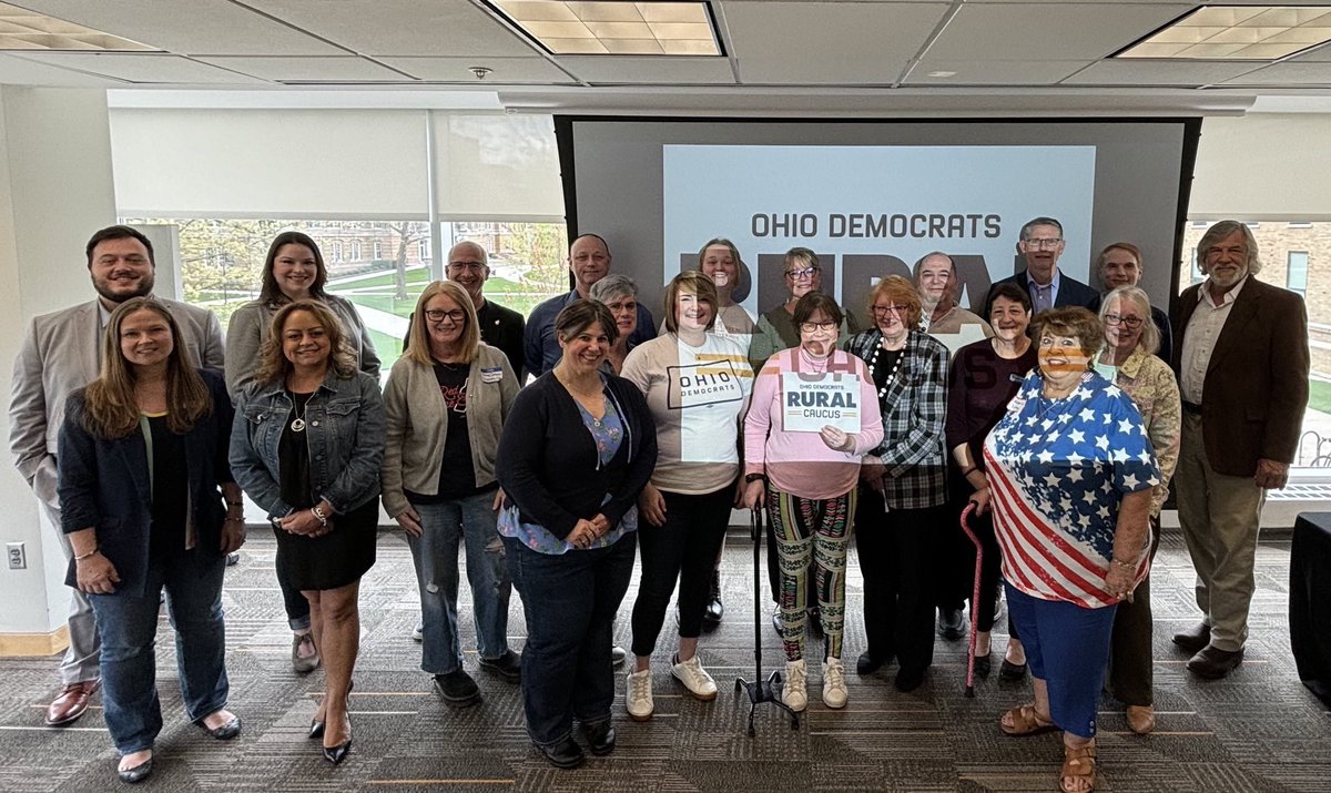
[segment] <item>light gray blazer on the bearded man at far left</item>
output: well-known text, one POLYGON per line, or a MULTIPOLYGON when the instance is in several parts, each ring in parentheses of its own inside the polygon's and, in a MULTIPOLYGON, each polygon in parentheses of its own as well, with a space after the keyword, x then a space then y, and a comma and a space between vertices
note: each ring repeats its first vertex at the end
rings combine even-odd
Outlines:
MULTIPOLYGON (((156 298, 180 325, 181 339, 194 366, 221 371, 225 363, 222 326, 205 309, 156 298)), ((9 398, 9 451, 19 474, 37 498, 60 508, 56 494, 56 448, 65 419, 65 399, 97 379, 101 317, 89 301, 32 319, 13 362, 9 398)))

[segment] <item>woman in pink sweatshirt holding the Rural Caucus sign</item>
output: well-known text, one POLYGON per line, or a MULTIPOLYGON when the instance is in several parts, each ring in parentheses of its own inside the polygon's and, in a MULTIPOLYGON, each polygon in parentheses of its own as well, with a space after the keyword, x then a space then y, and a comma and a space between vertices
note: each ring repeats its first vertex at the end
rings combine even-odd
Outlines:
POLYGON ((809 557, 827 652, 823 703, 845 707, 841 632, 845 555, 855 520, 860 458, 882 442, 882 420, 864 361, 836 349, 844 314, 831 297, 809 293, 795 305, 800 346, 763 366, 744 420, 744 504, 767 506, 781 560, 785 644, 783 701, 808 704, 804 625, 809 557))

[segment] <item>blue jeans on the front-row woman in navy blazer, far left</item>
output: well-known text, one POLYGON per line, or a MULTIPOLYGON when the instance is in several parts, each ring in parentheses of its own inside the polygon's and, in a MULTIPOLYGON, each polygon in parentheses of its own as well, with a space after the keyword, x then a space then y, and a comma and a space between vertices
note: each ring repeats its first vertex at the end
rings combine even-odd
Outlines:
POLYGON ((198 721, 226 705, 226 629, 222 571, 216 552, 181 551, 148 563, 142 597, 89 595, 101 635, 101 701, 106 729, 121 754, 152 749, 162 728, 153 644, 161 591, 176 629, 176 669, 185 712, 198 721))

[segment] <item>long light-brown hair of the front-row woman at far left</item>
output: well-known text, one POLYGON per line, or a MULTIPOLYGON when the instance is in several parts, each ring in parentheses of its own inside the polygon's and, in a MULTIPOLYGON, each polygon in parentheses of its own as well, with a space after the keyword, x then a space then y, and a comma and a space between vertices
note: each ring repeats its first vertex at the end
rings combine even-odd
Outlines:
POLYGON ((198 419, 213 412, 213 397, 204 378, 194 370, 180 338, 180 325, 165 306, 149 297, 129 298, 110 313, 106 333, 101 337, 101 373, 84 391, 83 426, 100 438, 126 438, 138 428, 142 411, 134 398, 138 377, 120 350, 120 327, 136 311, 150 311, 166 321, 172 351, 166 357, 166 426, 185 434, 198 419))

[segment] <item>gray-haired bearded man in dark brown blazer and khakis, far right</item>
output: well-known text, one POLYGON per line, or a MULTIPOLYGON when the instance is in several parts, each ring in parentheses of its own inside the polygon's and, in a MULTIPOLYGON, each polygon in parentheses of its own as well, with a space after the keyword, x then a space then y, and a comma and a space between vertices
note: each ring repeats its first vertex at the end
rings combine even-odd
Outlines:
POLYGON ((1174 305, 1183 439, 1174 491, 1197 568, 1202 623, 1174 635, 1189 672, 1219 679, 1243 660, 1266 491, 1283 488, 1308 404, 1308 315, 1298 294, 1263 283, 1252 232, 1221 221, 1202 234, 1206 281, 1174 305))

